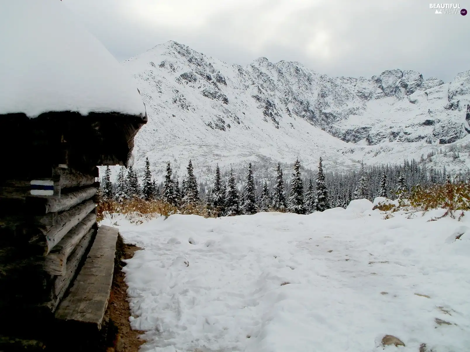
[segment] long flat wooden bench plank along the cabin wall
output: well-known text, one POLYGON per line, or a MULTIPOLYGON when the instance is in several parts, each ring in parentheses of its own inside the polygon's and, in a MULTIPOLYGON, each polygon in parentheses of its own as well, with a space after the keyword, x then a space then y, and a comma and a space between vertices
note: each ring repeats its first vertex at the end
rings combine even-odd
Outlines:
POLYGON ((110 297, 118 234, 116 228, 100 227, 85 264, 55 312, 56 319, 92 324, 101 329, 110 297))

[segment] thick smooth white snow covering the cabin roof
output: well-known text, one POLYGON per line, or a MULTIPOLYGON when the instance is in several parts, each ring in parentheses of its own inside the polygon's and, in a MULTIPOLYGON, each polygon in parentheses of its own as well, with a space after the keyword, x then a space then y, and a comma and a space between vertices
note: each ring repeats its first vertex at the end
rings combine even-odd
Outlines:
POLYGON ((0 48, 0 114, 145 114, 133 77, 62 1, 0 1, 0 48))

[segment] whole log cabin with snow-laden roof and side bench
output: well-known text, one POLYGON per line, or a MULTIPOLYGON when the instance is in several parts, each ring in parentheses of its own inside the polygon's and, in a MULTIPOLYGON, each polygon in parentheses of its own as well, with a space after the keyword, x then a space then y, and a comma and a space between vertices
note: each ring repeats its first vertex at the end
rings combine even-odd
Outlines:
POLYGON ((0 351, 80 350, 106 323, 118 236, 96 223, 97 166, 127 166, 145 106, 61 1, 0 14, 0 351))

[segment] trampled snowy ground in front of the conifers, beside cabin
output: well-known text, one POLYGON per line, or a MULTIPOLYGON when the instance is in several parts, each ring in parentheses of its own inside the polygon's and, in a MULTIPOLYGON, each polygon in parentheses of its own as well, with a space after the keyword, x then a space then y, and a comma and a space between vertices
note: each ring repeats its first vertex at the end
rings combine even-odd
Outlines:
POLYGON ((125 267, 141 351, 375 352, 390 334, 406 347, 385 351, 468 352, 470 214, 371 207, 105 219, 145 249, 125 267))

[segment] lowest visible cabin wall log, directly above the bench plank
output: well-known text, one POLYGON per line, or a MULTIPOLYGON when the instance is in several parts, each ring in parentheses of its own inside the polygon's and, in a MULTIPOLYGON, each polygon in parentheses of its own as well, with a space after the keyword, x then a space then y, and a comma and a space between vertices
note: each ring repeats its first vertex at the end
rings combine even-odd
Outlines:
POLYGON ((56 277, 54 283, 54 299, 47 305, 49 306, 52 312, 55 311, 61 299, 63 298, 63 295, 67 291, 67 288, 70 286, 70 283, 72 282, 72 279, 76 274, 78 265, 80 264, 83 254, 86 252, 86 248, 90 244, 90 241, 93 238, 95 231, 96 230, 92 228, 88 230, 84 237, 82 237, 80 242, 78 242, 78 245, 75 247, 75 250, 73 251, 71 256, 67 259, 67 269, 65 275, 56 277))

